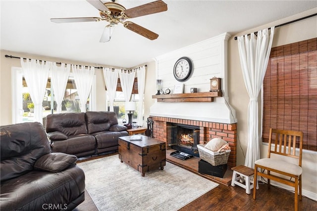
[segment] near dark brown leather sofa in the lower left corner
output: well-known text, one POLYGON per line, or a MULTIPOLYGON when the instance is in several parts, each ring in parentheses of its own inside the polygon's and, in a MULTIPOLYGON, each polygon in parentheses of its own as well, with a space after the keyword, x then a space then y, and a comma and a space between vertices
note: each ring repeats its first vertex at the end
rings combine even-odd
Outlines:
POLYGON ((51 153, 40 123, 1 126, 1 211, 73 210, 85 200, 77 157, 51 153))

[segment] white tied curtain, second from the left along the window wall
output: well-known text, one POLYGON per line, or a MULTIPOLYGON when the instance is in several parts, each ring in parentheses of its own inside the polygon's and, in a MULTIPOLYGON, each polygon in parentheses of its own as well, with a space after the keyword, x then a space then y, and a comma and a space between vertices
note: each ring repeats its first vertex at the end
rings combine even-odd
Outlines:
POLYGON ((56 62, 53 63, 51 68, 51 84, 54 90, 54 97, 57 104, 56 113, 61 113, 61 103, 65 94, 67 80, 69 77, 70 65, 63 64, 58 67, 56 62))

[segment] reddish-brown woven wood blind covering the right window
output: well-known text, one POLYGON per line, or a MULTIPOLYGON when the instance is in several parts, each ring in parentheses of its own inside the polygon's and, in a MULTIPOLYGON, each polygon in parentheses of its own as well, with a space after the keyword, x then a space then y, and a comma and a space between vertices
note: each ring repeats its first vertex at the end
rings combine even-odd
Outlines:
POLYGON ((263 88, 263 141, 270 127, 299 130, 317 151, 317 38, 272 48, 263 88))

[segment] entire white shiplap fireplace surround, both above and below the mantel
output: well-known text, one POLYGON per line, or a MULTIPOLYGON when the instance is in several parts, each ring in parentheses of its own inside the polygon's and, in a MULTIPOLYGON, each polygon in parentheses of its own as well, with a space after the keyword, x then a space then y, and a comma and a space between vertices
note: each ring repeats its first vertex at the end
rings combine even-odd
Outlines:
MULTIPOLYGON (((198 92, 208 92, 213 77, 221 78, 221 89, 226 93, 229 37, 224 33, 156 57, 156 78, 162 80, 163 91, 169 88, 173 93, 174 85, 180 84, 174 78, 173 67, 177 59, 187 56, 194 63, 194 72, 189 80, 183 82, 184 93, 189 93, 191 87, 196 87, 198 92)), ((213 102, 156 102, 150 108, 150 115, 231 124, 236 119, 234 109, 229 107, 223 97, 215 97, 213 102)))

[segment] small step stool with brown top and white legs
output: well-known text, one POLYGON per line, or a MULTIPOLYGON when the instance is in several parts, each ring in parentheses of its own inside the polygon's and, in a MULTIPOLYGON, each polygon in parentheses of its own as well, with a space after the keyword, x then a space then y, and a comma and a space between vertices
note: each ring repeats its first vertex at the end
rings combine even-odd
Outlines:
MULTIPOLYGON (((246 189, 246 193, 250 194, 251 189, 254 187, 254 169, 245 167, 243 165, 231 168, 233 170, 231 186, 239 185, 246 189), (243 181, 245 180, 245 184, 243 181)), ((259 189, 258 180, 257 180, 257 189, 259 189)))

